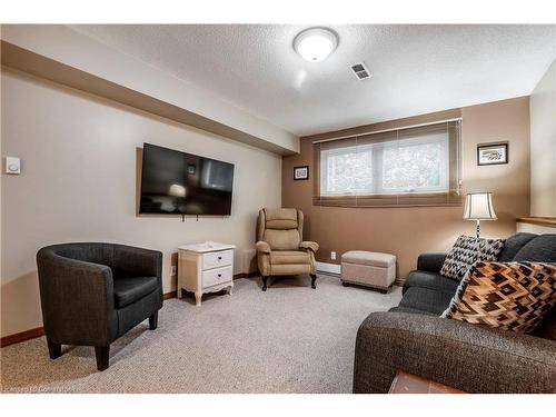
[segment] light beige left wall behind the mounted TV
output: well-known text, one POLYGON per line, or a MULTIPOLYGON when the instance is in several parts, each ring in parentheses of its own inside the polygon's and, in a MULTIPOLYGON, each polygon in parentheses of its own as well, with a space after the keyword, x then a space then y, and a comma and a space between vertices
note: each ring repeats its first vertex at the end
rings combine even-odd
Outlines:
POLYGON ((41 326, 37 250, 63 241, 116 241, 163 252, 163 289, 180 244, 254 246, 260 207, 280 205, 279 156, 211 136, 22 73, 1 76, 2 156, 22 158, 2 175, 1 336, 41 326), (136 217, 136 149, 143 141, 236 165, 232 216, 136 217))

